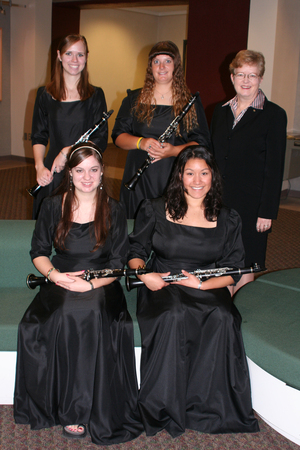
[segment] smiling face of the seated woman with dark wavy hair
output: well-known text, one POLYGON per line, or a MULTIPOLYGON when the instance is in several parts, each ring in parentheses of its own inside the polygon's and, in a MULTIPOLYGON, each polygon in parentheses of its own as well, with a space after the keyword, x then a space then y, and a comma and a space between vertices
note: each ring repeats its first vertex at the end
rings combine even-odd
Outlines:
POLYGON ((182 177, 185 195, 203 200, 211 188, 211 181, 211 168, 204 159, 191 158, 186 162, 182 177))

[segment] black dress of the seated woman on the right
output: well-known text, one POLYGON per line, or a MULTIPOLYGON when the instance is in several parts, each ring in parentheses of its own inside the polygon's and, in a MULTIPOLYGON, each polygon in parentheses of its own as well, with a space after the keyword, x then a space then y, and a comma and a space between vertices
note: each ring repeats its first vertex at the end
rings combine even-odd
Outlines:
MULTIPOLYGON (((161 199, 145 200, 130 235, 130 258, 155 272, 242 267, 241 222, 222 209, 216 228, 174 224, 161 199)), ((251 406, 241 316, 227 288, 172 285, 138 292, 142 336, 139 406, 147 435, 186 428, 206 433, 259 431, 251 406)))

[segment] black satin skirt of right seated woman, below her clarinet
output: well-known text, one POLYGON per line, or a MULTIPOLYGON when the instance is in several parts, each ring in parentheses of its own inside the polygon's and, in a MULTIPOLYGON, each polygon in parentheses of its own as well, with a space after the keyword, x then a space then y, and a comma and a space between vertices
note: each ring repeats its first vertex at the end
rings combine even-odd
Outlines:
POLYGON ((138 296, 139 407, 148 436, 165 429, 259 431, 251 405, 241 316, 227 288, 169 285, 138 296))

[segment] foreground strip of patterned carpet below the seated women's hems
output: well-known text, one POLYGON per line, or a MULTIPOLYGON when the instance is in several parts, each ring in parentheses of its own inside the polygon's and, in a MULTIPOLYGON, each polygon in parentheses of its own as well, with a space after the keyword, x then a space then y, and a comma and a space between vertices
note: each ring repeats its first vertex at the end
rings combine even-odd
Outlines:
POLYGON ((85 439, 70 440, 62 436, 62 428, 53 427, 31 431, 27 425, 15 425, 12 406, 0 406, 0 448, 1 450, 42 449, 110 449, 110 450, 299 450, 299 446, 276 433, 259 419, 260 432, 254 434, 201 434, 187 430, 182 436, 172 439, 162 431, 154 437, 143 433, 134 441, 109 447, 92 444, 85 439))

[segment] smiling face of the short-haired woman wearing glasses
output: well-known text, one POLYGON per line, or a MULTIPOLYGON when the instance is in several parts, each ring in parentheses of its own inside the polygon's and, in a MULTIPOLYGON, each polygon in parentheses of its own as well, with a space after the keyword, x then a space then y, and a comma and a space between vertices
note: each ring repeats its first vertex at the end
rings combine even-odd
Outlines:
POLYGON ((242 67, 235 69, 234 75, 231 74, 230 77, 237 96, 252 103, 258 94, 262 81, 257 65, 244 64, 242 67), (239 76, 238 74, 243 74, 244 76, 239 76), (253 75, 256 75, 256 77, 253 75))

